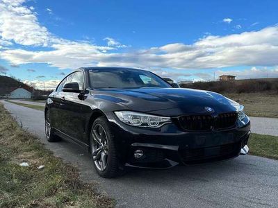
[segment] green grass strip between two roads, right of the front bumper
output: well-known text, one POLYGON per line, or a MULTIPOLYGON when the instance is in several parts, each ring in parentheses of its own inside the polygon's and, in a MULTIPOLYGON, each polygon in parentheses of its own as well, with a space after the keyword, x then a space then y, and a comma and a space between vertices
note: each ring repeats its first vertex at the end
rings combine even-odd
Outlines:
POLYGON ((250 155, 278 159, 278 137, 251 134, 248 141, 250 155))

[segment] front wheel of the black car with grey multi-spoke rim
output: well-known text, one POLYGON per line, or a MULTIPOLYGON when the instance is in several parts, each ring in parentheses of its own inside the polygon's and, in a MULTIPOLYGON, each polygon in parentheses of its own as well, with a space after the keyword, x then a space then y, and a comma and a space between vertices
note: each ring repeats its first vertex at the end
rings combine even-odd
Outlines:
POLYGON ((101 177, 122 175, 117 159, 115 141, 105 116, 97 118, 90 132, 90 153, 97 173, 101 177), (102 130, 100 130, 102 128, 102 130), (101 165, 102 164, 102 165, 101 165))

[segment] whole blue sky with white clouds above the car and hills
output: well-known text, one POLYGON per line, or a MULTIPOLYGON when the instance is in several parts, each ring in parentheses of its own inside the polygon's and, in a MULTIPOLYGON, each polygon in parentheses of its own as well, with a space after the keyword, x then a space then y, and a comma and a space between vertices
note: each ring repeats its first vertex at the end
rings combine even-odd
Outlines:
POLYGON ((278 1, 0 0, 0 74, 54 88, 79 67, 181 80, 278 77, 278 1))

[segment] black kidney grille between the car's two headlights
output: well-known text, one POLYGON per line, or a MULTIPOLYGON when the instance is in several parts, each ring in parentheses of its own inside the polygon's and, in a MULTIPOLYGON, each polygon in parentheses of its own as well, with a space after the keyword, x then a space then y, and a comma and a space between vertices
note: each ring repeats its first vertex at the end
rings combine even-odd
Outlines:
POLYGON ((179 124, 184 130, 190 131, 220 130, 233 128, 237 118, 236 112, 218 114, 216 117, 211 115, 181 116, 179 117, 179 124))

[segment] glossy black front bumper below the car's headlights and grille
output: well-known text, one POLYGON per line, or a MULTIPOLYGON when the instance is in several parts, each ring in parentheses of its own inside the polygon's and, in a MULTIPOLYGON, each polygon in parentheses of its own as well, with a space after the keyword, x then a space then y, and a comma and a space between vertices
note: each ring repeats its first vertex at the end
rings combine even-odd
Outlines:
POLYGON ((229 130, 185 132, 174 123, 158 129, 136 128, 112 117, 111 130, 122 164, 142 168, 169 168, 231 159, 248 153, 250 121, 229 130), (136 150, 143 156, 134 157, 136 150))

